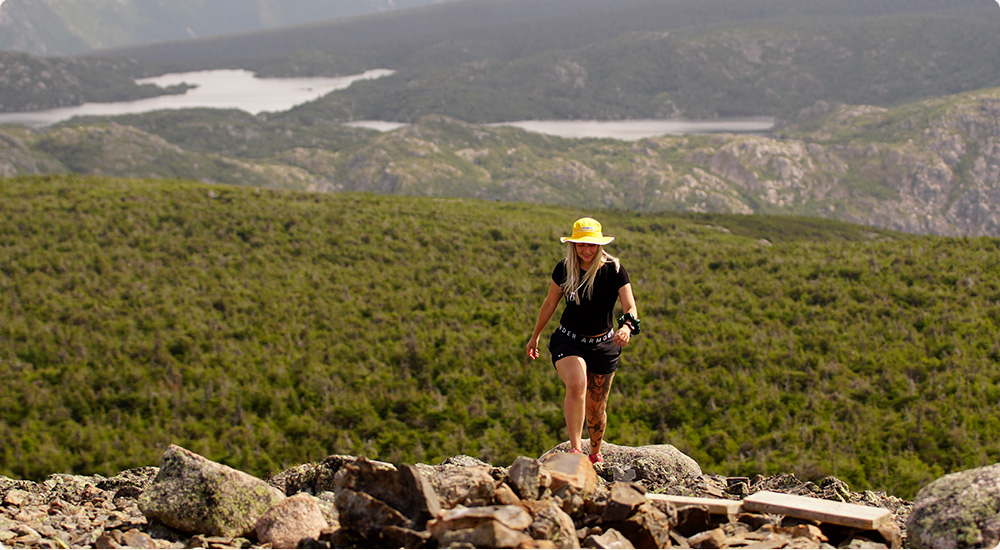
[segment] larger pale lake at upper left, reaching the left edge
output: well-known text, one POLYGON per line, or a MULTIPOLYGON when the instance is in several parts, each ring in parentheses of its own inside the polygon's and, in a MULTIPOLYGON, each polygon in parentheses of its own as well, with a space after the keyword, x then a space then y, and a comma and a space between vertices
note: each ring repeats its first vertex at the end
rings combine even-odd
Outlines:
POLYGON ((318 99, 359 80, 388 76, 394 71, 374 69, 341 77, 257 78, 250 71, 213 70, 172 73, 138 80, 139 84, 173 86, 187 83, 197 88, 185 94, 165 95, 116 103, 86 103, 74 107, 30 113, 0 113, 0 124, 48 126, 75 116, 107 116, 146 113, 161 109, 239 109, 252 114, 287 111, 318 99))

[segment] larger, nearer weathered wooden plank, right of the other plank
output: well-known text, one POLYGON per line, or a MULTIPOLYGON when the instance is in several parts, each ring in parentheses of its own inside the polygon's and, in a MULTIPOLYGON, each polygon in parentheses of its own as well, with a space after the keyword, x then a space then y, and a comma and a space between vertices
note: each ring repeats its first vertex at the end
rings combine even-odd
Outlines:
POLYGON ((865 530, 878 529, 892 517, 892 512, 885 508, 771 491, 761 491, 746 497, 743 499, 743 509, 865 530))

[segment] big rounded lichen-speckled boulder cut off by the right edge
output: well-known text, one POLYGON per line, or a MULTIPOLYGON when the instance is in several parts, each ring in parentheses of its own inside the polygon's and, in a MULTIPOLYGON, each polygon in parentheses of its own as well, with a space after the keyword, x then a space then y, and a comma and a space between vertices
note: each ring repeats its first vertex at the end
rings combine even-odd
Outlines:
POLYGON ((1000 542, 1000 464, 939 478, 917 493, 912 548, 993 548, 1000 542))

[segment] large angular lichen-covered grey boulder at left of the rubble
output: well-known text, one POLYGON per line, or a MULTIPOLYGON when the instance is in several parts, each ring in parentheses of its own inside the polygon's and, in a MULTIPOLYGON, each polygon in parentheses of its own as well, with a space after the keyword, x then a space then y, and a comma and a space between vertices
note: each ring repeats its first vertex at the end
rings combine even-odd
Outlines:
POLYGON ((155 481, 139 497, 139 509, 184 533, 245 537, 284 498, 260 479, 171 445, 155 481))

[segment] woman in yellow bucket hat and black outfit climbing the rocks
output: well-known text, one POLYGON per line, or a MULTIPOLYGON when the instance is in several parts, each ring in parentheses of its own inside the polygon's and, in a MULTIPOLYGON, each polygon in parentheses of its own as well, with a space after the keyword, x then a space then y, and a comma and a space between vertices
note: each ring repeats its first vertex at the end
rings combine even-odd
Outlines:
POLYGON ((552 284, 527 346, 528 357, 537 359, 538 338, 565 297, 566 308, 559 319, 559 328, 549 340, 549 351, 566 385, 563 413, 569 429, 570 452, 583 452, 581 440, 586 420, 590 461, 595 464, 604 461, 601 443, 608 423, 608 394, 618 369, 618 357, 622 347, 639 333, 638 310, 628 271, 618 258, 604 251, 604 245, 613 240, 614 237, 604 236, 600 222, 593 218, 580 218, 573 224, 571 236, 560 237, 560 242, 569 243, 566 258, 552 271, 552 284), (612 313, 619 300, 623 315, 618 319, 618 330, 613 331, 612 313))

